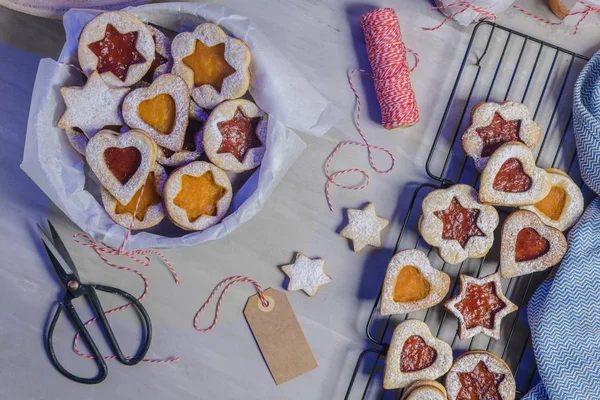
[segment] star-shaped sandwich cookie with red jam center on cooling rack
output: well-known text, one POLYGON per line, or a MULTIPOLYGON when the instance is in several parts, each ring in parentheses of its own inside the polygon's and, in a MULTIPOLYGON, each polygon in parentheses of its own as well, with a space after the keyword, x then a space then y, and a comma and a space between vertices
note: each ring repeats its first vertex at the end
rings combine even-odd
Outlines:
POLYGON ((502 318, 518 308, 502 293, 499 273, 483 278, 461 274, 458 295, 444 305, 458 318, 460 340, 468 339, 478 333, 496 340, 500 339, 502 318))

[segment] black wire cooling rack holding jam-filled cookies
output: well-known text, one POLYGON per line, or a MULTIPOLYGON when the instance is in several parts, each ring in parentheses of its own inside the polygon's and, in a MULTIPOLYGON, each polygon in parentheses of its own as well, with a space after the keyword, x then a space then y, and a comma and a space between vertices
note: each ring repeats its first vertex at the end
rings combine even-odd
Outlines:
MULTIPOLYGON (((592 194, 583 185, 575 162, 571 112, 574 81, 587 60, 585 56, 494 23, 480 22, 474 28, 427 159, 426 171, 434 182, 423 183, 415 189, 394 249, 396 253, 400 249, 417 248, 428 254, 434 268, 450 275, 452 284, 447 297, 456 294, 459 274, 485 276, 497 271, 500 264, 497 239, 500 228, 494 233, 496 243, 486 257, 467 259, 460 265, 440 259, 417 228, 421 202, 432 190, 455 183, 478 186, 479 174, 460 144, 470 110, 482 101, 515 100, 527 105, 543 130, 541 143, 534 152, 537 165, 566 171, 579 182, 586 200, 590 201, 592 194)), ((498 211, 501 227, 510 210, 498 211)), ((366 326, 370 347, 356 362, 345 398, 399 398, 401 390, 384 391, 381 382, 392 328, 408 318, 425 321, 434 335, 451 343, 455 357, 467 350, 480 349, 502 357, 514 373, 517 398, 522 397, 532 386, 537 372, 526 306, 546 275, 547 272, 540 272, 502 280, 504 293, 519 306, 519 311, 504 318, 498 341, 484 335, 459 340, 456 318, 448 315, 443 303, 428 310, 382 317, 380 291, 366 326)))

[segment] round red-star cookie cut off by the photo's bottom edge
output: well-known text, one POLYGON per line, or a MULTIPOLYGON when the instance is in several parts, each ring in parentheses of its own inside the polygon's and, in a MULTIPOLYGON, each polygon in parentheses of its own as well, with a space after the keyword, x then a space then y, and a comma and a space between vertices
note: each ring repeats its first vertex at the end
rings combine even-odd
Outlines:
POLYGON ((498 356, 488 351, 468 351, 458 357, 446 375, 448 400, 514 400, 512 371, 498 356))

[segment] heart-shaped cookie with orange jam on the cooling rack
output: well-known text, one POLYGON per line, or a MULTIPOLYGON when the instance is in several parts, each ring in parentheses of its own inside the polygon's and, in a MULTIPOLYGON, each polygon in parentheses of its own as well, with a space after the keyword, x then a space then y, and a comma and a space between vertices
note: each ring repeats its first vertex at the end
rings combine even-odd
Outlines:
POLYGON ((440 303, 450 277, 429 263, 420 250, 398 252, 388 265, 381 293, 381 315, 425 310, 440 303))

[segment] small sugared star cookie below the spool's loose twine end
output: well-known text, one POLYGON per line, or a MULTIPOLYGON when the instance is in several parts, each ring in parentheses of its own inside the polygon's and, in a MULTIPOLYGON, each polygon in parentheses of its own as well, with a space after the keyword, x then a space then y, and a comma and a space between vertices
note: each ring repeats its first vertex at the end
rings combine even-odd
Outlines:
POLYGON ((348 225, 340 235, 352 241, 355 252, 361 251, 366 245, 381 247, 381 231, 389 224, 375 214, 375 205, 367 204, 362 210, 348 209, 348 225))

